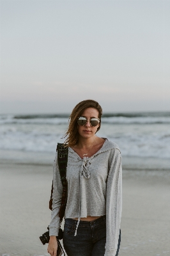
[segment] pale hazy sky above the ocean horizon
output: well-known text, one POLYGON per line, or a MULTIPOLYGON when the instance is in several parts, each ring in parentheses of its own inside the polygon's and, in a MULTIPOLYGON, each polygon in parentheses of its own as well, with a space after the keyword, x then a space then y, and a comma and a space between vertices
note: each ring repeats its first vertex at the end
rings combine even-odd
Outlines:
POLYGON ((1 0, 0 113, 170 111, 170 1, 1 0))

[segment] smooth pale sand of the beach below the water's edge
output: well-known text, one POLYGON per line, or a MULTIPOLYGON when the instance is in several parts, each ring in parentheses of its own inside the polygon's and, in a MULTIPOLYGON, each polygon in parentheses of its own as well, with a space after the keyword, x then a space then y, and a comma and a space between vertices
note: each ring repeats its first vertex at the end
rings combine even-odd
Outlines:
MULTIPOLYGON (((0 168, 0 255, 49 255, 39 236, 50 222, 52 164, 3 160, 0 168)), ((127 169, 119 256, 170 255, 170 170, 127 169)))

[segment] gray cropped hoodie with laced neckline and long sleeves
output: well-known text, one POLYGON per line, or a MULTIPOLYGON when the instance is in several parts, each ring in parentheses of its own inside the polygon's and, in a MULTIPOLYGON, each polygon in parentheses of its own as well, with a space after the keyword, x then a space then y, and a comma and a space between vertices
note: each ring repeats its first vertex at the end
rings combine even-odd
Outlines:
MULTIPOLYGON (((58 236, 59 207, 63 186, 58 168, 58 155, 54 159, 54 191, 50 236, 58 236)), ((79 232, 80 218, 106 215, 105 255, 115 256, 118 247, 122 209, 121 153, 118 145, 105 139, 96 154, 81 159, 68 148, 66 169, 68 200, 65 219, 78 218, 75 236, 79 232)))

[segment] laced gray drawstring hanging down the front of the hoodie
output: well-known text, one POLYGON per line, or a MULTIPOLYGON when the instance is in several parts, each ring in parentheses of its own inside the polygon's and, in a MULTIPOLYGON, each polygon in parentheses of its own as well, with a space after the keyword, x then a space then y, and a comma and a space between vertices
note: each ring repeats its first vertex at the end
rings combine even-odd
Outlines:
POLYGON ((77 227, 76 227, 76 229, 75 229, 75 234, 74 234, 74 236, 77 235, 77 228, 79 227, 79 223, 80 223, 80 220, 81 220, 81 176, 83 175, 84 178, 89 179, 90 173, 89 173, 88 167, 89 167, 89 162, 86 160, 86 157, 83 157, 83 159, 82 159, 82 165, 81 165, 81 172, 80 172, 79 218, 78 218, 78 221, 77 221, 77 227))

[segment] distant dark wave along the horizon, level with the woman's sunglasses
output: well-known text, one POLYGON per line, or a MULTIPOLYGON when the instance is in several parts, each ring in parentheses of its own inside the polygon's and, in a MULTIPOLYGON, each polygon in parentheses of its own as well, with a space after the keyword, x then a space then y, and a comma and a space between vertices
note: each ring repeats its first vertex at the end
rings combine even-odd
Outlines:
MULTIPOLYGON (((0 124, 68 124, 69 115, 0 115, 0 124)), ((105 114, 104 124, 170 124, 170 113, 105 114)))

